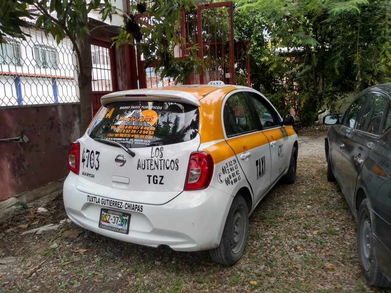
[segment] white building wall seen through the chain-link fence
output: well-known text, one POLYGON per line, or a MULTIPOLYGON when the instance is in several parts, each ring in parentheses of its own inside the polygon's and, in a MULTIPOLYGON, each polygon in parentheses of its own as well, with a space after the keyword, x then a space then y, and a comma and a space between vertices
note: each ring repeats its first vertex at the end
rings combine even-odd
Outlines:
MULTIPOLYGON (((31 35, 20 43, 21 64, 0 64, 0 106, 44 105, 79 102, 75 80, 74 53, 69 39, 57 42, 42 30, 23 29, 31 35), (35 45, 53 48, 57 55, 57 68, 37 65, 35 45), (53 82, 53 79, 55 82, 53 82), (19 90, 20 89, 20 90, 19 90)), ((12 38, 11 38, 12 39, 12 38)), ((53 52, 53 54, 54 54, 53 52)))

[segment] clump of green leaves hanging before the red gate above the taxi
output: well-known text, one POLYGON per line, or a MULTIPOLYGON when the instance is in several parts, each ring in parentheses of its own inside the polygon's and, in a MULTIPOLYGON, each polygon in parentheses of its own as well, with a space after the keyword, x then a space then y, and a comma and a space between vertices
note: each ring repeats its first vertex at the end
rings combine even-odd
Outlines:
POLYGON ((150 7, 132 4, 133 14, 125 18, 121 33, 113 38, 113 45, 116 48, 124 43, 136 45, 144 57, 144 68, 159 60, 154 67, 156 72, 161 70, 161 78, 172 77, 175 84, 185 82, 195 71, 200 71, 201 65, 197 45, 187 47, 184 57, 174 57, 175 46, 185 46, 179 23, 181 9, 189 11, 190 4, 195 5, 188 0, 157 0, 150 7), (137 14, 140 12, 143 13, 137 14))

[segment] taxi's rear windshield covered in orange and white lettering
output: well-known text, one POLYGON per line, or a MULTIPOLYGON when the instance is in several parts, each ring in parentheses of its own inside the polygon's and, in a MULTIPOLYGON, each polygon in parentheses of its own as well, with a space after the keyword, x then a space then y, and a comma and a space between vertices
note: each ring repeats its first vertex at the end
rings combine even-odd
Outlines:
POLYGON ((100 109, 88 135, 127 147, 186 142, 198 133, 198 108, 171 102, 115 102, 100 109))

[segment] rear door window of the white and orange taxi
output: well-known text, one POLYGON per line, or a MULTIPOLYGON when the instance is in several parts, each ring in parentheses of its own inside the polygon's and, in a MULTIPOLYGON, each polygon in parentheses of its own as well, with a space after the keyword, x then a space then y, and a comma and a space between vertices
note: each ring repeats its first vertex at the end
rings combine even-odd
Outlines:
POLYGON ((242 93, 227 99, 223 109, 223 121, 227 136, 256 130, 250 109, 242 93))

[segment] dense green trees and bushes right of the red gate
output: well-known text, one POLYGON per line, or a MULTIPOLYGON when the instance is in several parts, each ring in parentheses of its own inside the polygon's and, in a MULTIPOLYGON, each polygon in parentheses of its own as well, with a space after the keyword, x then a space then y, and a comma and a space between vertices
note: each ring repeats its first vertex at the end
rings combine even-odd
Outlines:
POLYGON ((390 82, 390 0, 240 0, 251 82, 311 124, 349 90, 390 82))

